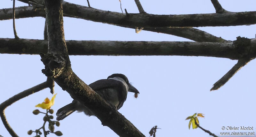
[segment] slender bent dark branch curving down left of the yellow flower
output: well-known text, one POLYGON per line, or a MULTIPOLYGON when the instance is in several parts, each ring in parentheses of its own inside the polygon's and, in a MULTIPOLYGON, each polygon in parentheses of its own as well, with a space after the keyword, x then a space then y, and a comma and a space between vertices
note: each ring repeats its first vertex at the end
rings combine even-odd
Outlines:
POLYGON ((18 135, 13 131, 12 127, 9 125, 5 114, 4 114, 4 110, 10 106, 12 103, 28 96, 31 95, 33 93, 36 93, 40 90, 43 90, 44 88, 50 88, 52 87, 52 85, 49 85, 49 81, 45 81, 41 84, 36 85, 35 87, 29 88, 27 90, 24 90, 22 92, 20 92, 17 95, 12 96, 11 98, 9 98, 8 100, 4 101, 3 103, 0 104, 0 117, 3 121, 3 124, 5 126, 5 128, 7 129, 7 131, 11 134, 12 137, 18 137, 18 135))

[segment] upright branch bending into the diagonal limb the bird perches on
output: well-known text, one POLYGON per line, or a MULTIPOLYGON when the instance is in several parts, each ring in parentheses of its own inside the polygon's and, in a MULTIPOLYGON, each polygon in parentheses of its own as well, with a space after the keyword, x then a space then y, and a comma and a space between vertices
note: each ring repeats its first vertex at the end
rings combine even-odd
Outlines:
POLYGON ((45 69, 42 72, 66 90, 73 99, 88 107, 102 125, 110 127, 120 136, 144 136, 130 121, 110 106, 100 95, 86 85, 71 69, 64 38, 61 0, 45 0, 48 53, 40 54, 45 69))

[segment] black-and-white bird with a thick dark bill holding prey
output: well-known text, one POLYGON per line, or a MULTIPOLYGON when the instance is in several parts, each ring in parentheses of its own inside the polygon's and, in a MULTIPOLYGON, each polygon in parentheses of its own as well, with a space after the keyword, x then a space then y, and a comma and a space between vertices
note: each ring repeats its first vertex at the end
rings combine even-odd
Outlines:
MULTIPOLYGON (((119 110, 126 100, 127 93, 133 92, 135 95, 140 92, 129 83, 128 78, 124 74, 112 74, 107 79, 97 80, 89 85, 96 93, 98 93, 109 104, 113 105, 116 110, 119 110)), ((72 103, 60 108, 56 115, 56 120, 60 121, 71 113, 84 112, 87 116, 95 116, 93 112, 80 103, 78 100, 73 100, 72 103)))

